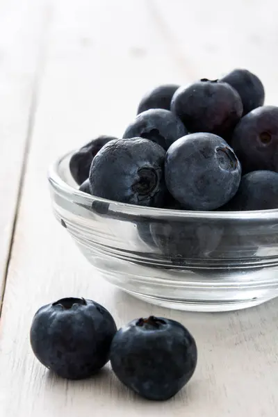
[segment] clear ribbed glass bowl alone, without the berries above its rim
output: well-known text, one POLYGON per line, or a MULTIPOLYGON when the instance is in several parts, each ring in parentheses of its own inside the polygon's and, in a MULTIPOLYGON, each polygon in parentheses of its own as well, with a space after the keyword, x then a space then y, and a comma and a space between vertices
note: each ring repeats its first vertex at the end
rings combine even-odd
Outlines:
POLYGON ((278 295, 278 210, 177 211, 93 197, 77 189, 70 156, 49 170, 54 213, 101 277, 189 311, 243 309, 278 295))

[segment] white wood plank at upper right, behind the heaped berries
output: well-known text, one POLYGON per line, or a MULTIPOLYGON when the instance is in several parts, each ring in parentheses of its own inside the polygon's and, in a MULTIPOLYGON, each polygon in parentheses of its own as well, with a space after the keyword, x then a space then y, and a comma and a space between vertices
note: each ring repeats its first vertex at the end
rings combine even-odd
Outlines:
POLYGON ((190 81, 247 68, 262 79, 268 104, 277 105, 277 2, 146 0, 146 5, 190 81))

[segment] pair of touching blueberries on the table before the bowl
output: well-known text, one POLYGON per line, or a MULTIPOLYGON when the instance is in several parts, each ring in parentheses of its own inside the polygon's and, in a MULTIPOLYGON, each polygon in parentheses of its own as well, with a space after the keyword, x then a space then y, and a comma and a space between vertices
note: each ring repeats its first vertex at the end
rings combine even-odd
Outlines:
POLYGON ((35 356, 56 375, 92 377, 110 360, 117 378, 149 400, 171 398, 197 364, 195 340, 179 322, 149 316, 117 330, 104 306, 84 298, 42 306, 30 340, 35 356))

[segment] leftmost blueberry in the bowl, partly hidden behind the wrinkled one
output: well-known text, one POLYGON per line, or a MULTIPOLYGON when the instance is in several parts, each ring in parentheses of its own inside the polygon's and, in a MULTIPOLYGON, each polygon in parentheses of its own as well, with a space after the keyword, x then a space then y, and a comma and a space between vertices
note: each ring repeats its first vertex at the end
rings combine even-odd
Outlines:
POLYGON ((117 138, 114 138, 113 136, 99 136, 74 152, 70 158, 70 172, 74 181, 76 181, 79 186, 89 177, 92 159, 97 152, 99 152, 101 147, 107 142, 115 139, 117 138))

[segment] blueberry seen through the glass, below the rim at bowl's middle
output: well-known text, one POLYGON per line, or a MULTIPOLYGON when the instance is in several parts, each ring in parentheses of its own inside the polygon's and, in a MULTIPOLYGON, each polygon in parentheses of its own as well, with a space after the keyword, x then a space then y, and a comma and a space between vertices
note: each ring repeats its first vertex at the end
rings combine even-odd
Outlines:
POLYGON ((174 264, 211 257, 222 238, 222 227, 207 220, 152 222, 150 231, 156 246, 174 264))

